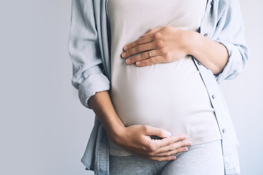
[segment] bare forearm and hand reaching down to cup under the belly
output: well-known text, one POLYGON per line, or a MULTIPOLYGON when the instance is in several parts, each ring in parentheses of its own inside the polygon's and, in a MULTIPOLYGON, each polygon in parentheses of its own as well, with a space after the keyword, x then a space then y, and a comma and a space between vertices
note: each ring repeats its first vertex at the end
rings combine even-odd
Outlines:
POLYGON ((125 127, 113 107, 108 90, 95 93, 88 103, 105 128, 108 138, 137 155, 159 161, 171 160, 176 158, 172 155, 187 151, 186 146, 192 145, 191 141, 185 140, 187 136, 170 136, 162 128, 149 125, 125 127), (164 139, 153 140, 151 135, 164 139))

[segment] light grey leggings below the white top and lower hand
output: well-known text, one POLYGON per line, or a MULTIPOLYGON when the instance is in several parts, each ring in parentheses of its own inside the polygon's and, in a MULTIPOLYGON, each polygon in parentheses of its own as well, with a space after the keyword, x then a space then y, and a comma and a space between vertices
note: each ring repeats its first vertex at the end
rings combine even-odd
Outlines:
POLYGON ((110 175, 225 175, 221 140, 188 146, 177 159, 150 160, 110 155, 110 175))

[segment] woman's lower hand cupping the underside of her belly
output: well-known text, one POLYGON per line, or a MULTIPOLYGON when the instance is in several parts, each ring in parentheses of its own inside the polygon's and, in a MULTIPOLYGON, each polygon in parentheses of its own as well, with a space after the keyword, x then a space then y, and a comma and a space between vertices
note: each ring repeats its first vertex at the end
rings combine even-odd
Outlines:
POLYGON ((192 143, 186 135, 170 136, 169 131, 150 125, 131 125, 119 132, 111 140, 132 153, 152 160, 165 161, 176 159, 174 154, 188 151, 192 143), (151 139, 158 136, 160 140, 151 139))

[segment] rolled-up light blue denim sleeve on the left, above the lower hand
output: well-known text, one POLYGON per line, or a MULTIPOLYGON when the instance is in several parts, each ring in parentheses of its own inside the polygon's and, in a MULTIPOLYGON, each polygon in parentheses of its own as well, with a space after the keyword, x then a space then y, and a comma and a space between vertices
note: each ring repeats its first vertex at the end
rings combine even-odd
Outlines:
POLYGON ((110 81, 101 69, 101 53, 95 25, 93 0, 72 0, 68 52, 73 63, 72 85, 82 105, 96 92, 109 90, 110 81))

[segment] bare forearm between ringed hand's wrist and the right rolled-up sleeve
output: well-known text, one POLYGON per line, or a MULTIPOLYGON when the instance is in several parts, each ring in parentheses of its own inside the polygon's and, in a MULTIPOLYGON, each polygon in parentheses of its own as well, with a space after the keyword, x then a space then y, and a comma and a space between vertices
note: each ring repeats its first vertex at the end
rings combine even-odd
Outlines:
POLYGON ((225 46, 197 32, 190 31, 188 35, 188 54, 193 55, 213 74, 221 73, 229 57, 225 46))

